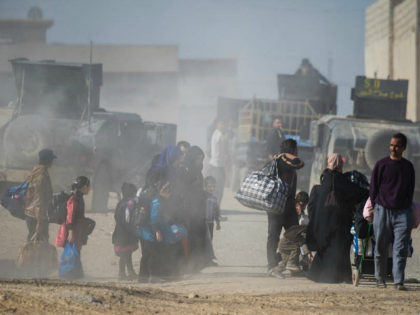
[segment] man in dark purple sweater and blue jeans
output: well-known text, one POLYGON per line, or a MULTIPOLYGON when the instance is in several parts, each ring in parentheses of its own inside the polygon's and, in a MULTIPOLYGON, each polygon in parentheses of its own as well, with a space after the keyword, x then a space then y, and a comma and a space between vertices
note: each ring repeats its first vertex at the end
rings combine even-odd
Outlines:
POLYGON ((376 163, 370 182, 370 199, 375 205, 375 278, 378 287, 386 287, 388 249, 393 242, 392 274, 397 290, 406 290, 404 270, 413 225, 411 204, 415 173, 413 164, 402 157, 406 147, 405 135, 393 135, 389 145, 390 156, 376 163))

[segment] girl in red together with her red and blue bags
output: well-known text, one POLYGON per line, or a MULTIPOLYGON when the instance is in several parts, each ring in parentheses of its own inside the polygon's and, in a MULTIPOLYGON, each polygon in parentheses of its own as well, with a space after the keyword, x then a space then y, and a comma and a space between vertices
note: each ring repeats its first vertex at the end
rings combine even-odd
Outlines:
POLYGON ((58 232, 56 246, 64 247, 60 259, 60 278, 83 278, 80 260, 82 246, 95 228, 95 221, 85 217, 84 195, 90 191, 90 181, 85 176, 77 177, 72 184, 72 192, 67 200, 67 217, 58 232))

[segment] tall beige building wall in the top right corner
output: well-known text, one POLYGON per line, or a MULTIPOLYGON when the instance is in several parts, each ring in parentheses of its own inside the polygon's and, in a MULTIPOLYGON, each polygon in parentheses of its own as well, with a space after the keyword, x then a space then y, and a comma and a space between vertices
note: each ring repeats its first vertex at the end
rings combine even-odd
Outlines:
POLYGON ((418 0, 378 0, 366 9, 365 75, 408 79, 407 115, 420 120, 418 0))

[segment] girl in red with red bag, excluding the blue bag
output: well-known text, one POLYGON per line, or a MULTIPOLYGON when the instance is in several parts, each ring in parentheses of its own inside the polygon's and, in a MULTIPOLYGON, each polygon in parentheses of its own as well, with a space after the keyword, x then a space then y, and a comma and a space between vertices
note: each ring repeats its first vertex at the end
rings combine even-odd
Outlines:
MULTIPOLYGON (((71 194, 67 200, 66 221, 60 226, 55 239, 55 245, 65 247, 67 243, 74 244, 81 257, 82 246, 87 244, 88 235, 95 228, 95 221, 85 217, 85 201, 83 196, 90 192, 90 181, 86 176, 77 177, 71 186, 71 194)), ((74 278, 83 277, 83 268, 72 272, 74 278)))

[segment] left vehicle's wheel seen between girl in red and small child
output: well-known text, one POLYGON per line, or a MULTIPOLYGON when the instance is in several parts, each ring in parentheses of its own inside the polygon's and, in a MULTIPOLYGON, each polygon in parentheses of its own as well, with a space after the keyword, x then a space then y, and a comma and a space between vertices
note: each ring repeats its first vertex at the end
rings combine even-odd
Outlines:
POLYGON ((99 166, 93 176, 92 211, 106 213, 111 187, 111 176, 105 164, 99 166))

